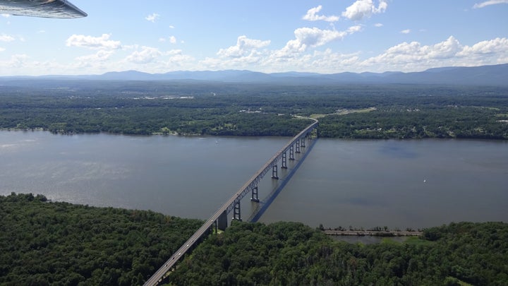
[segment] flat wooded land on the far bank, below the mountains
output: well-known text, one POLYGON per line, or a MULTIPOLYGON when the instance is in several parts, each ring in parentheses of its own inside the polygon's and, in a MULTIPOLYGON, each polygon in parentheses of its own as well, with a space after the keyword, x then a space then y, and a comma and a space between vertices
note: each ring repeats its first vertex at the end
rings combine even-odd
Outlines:
POLYGON ((508 88, 7 81, 0 129, 294 136, 315 117, 335 138, 508 139, 508 88))

